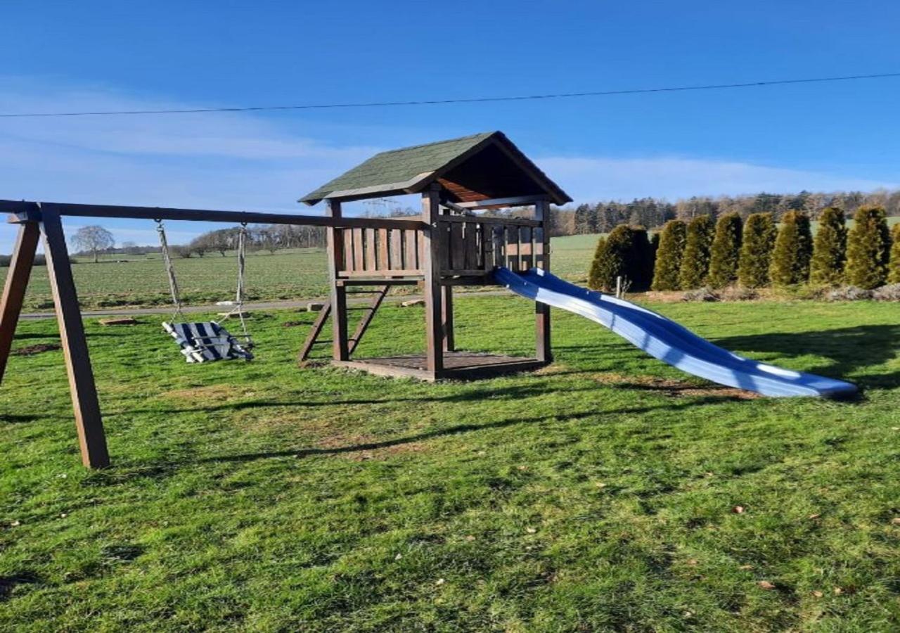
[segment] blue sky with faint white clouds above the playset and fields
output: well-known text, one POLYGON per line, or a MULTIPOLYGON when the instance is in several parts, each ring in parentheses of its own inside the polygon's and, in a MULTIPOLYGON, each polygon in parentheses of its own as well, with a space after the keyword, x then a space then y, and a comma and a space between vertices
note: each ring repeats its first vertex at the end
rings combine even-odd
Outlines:
MULTIPOLYGON (((3 113, 900 71, 900 5, 887 1, 45 0, 4 3, 0 20, 3 113)), ((505 131, 578 200, 890 187, 900 185, 898 96, 900 77, 538 102, 0 119, 0 197, 289 212, 375 151, 486 130, 505 131)), ((119 240, 154 236, 141 222, 110 228, 119 240)), ((205 228, 172 232, 186 240, 205 228)), ((12 237, 0 229, 0 252, 12 237)))

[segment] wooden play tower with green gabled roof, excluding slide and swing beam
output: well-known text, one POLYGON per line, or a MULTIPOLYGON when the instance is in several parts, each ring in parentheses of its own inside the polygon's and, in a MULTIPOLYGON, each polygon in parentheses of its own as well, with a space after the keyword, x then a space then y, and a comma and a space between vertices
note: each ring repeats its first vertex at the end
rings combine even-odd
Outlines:
MULTIPOLYGON (((386 151, 304 196, 303 203, 324 202, 338 225, 329 229, 334 363, 426 380, 475 378, 545 365, 552 356, 547 306, 536 304, 534 357, 467 353, 455 348, 453 288, 493 285, 491 273, 498 266, 549 270, 549 204, 570 200, 499 131, 386 151), (422 213, 407 220, 410 228, 339 226, 341 203, 396 194, 421 194, 422 213), (528 218, 478 213, 507 207, 534 211, 528 218), (425 294, 424 353, 352 359, 386 289, 409 284, 421 284, 425 294), (380 291, 351 336, 347 289, 361 285, 380 291)), ((321 315, 302 356, 326 317, 321 315)))

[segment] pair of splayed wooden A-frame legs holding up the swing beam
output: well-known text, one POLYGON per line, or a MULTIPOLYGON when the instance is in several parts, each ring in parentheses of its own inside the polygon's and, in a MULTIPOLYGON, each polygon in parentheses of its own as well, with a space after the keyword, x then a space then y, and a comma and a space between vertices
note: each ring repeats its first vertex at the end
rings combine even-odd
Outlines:
POLYGON ((0 378, 3 377, 13 344, 15 326, 22 312, 25 288, 41 233, 44 237, 53 303, 56 306, 59 339, 66 358, 81 461, 89 468, 103 468, 110 464, 109 452, 94 384, 94 370, 88 356, 85 328, 81 322, 81 310, 68 259, 66 237, 58 213, 41 213, 40 228, 38 222, 31 220, 20 223, 19 237, 6 276, 3 298, 0 300, 0 378))

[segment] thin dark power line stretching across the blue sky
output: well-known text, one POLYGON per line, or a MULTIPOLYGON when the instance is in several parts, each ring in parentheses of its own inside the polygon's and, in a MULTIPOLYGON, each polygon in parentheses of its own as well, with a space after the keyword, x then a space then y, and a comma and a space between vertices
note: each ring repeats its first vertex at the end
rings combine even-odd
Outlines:
POLYGON ((579 93, 555 93, 549 95, 511 95, 480 96, 460 99, 428 99, 426 101, 378 101, 356 104, 305 104, 305 105, 253 105, 234 108, 184 108, 171 110, 112 110, 100 112, 57 112, 57 113, 0 113, 0 118, 26 118, 50 116, 112 116, 133 114, 197 114, 197 113, 229 113, 229 112, 262 112, 276 110, 327 110, 337 108, 375 108, 401 105, 442 105, 442 104, 484 104, 498 101, 536 101, 539 99, 568 99, 585 96, 609 95, 644 95, 647 93, 674 93, 692 90, 723 90, 726 88, 750 88, 757 86, 784 86, 787 84, 821 84, 834 81, 851 81, 856 79, 884 79, 900 77, 897 73, 878 73, 875 75, 845 75, 842 77, 812 77, 804 79, 776 79, 771 81, 748 81, 738 84, 710 84, 707 86, 670 86, 662 88, 633 88, 627 90, 597 90, 579 93))

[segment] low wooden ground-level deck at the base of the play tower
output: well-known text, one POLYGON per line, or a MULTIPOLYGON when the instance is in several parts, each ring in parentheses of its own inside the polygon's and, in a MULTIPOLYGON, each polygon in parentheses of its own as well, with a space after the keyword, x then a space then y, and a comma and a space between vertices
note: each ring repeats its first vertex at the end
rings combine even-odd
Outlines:
POLYGON ((500 356, 478 352, 446 352, 444 370, 437 375, 426 368, 424 354, 332 361, 336 366, 360 369, 374 375, 407 376, 434 382, 441 379, 477 380, 500 374, 534 371, 546 365, 536 358, 500 356))

